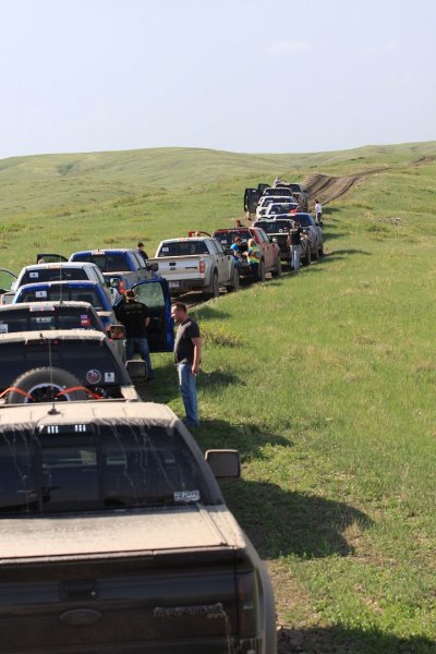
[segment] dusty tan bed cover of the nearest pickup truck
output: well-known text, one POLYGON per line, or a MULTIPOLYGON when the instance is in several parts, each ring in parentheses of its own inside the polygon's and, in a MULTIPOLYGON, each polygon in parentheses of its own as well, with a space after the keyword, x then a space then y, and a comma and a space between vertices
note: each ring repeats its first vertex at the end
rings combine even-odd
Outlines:
POLYGON ((223 505, 0 520, 3 564, 244 546, 244 534, 223 505))

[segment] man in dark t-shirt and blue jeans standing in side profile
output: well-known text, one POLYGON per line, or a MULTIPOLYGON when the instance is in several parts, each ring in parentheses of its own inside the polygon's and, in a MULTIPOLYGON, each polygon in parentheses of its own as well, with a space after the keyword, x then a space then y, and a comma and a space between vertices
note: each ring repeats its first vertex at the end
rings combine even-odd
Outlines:
POLYGON ((197 427, 198 403, 196 377, 199 373, 202 338, 197 323, 187 315, 186 305, 175 302, 171 306, 171 317, 178 325, 174 341, 174 363, 179 375, 179 388, 182 396, 186 417, 186 427, 197 427))

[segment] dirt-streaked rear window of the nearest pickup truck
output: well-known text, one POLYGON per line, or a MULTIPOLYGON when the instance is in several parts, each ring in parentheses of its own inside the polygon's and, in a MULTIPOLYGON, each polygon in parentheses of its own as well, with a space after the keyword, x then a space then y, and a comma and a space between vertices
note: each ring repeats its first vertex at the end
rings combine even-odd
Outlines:
POLYGON ((80 427, 0 432, 0 512, 210 504, 201 468, 175 429, 132 422, 80 427))

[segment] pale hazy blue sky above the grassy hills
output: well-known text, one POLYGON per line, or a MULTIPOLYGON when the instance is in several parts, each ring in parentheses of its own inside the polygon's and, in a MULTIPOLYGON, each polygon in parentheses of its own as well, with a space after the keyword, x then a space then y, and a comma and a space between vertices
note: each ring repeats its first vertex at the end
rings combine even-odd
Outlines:
POLYGON ((0 0, 0 159, 436 140, 435 0, 0 0))

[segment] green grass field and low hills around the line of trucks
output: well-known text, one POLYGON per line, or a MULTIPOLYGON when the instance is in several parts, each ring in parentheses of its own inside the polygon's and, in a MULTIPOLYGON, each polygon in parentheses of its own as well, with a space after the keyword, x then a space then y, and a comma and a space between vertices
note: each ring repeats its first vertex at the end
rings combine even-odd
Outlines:
MULTIPOLYGON (((85 172, 62 177, 63 195, 47 173, 55 159, 19 160, 33 170, 16 178, 20 210, 12 160, 0 162, 12 203, 0 207, 1 266, 138 238, 153 253, 161 238, 231 225, 244 187, 277 173, 380 169, 325 207, 324 259, 195 311, 195 435, 242 455, 243 479, 222 487, 268 561, 281 652, 436 652, 436 144, 234 160, 202 150, 199 164, 194 150, 144 153, 155 179, 142 183, 132 153, 105 166, 95 155, 97 169, 89 155, 85 172)), ((81 156, 62 157, 55 166, 81 156)), ((171 358, 154 362, 144 398, 182 413, 171 358)))

